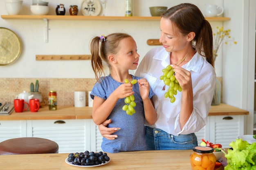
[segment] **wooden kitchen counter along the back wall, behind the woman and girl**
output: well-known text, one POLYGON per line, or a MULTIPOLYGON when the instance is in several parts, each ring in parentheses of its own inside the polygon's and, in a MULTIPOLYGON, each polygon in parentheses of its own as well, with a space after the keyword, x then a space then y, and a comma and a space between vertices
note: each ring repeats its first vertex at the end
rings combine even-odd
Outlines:
MULTIPOLYGON (((248 115, 249 111, 221 103, 211 106, 209 116, 248 115)), ((10 115, 0 116, 0 120, 56 120, 56 119, 92 119, 92 107, 58 106, 57 110, 49 110, 47 106, 38 112, 29 110, 21 113, 13 111, 10 115)))

